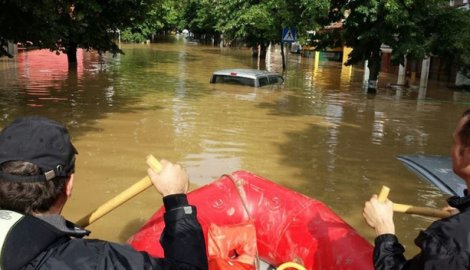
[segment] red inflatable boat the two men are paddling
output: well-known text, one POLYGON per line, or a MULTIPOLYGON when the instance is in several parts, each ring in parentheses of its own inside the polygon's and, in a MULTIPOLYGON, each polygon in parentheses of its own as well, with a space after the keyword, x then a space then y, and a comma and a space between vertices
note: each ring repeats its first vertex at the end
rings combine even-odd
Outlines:
MULTIPOLYGON (((211 224, 254 224, 258 256, 272 266, 373 269, 372 245, 325 204, 249 172, 224 175, 190 192, 188 200, 198 209, 206 239, 211 224)), ((129 239, 134 248, 163 256, 163 211, 129 239)))

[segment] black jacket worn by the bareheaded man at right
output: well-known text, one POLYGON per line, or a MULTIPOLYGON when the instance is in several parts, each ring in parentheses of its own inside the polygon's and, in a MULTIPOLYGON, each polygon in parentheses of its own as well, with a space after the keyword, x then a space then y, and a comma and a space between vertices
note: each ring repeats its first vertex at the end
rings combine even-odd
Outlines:
POLYGON ((452 197, 448 203, 460 213, 422 231, 415 239, 421 252, 411 260, 405 259, 405 249, 395 235, 378 236, 375 269, 470 269, 470 196, 452 197))

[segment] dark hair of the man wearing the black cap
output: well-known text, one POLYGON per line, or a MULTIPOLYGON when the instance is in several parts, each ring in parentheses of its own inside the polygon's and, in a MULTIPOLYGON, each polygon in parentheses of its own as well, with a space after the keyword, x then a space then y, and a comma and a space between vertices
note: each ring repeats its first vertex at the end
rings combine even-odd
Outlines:
MULTIPOLYGON (((8 161, 0 171, 12 175, 38 175, 38 166, 26 161, 8 161)), ((0 178, 0 209, 32 214, 47 212, 64 192, 68 177, 55 177, 45 182, 13 182, 0 178)))

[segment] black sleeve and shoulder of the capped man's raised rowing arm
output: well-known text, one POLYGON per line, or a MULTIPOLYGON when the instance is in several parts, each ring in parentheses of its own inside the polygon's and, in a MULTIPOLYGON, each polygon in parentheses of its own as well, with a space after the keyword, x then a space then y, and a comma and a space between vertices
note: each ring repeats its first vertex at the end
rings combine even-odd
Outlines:
POLYGON ((160 242, 165 258, 154 258, 126 244, 69 239, 57 242, 23 269, 207 269, 205 240, 196 208, 189 206, 186 195, 181 194, 165 197, 164 203, 165 229, 160 242))

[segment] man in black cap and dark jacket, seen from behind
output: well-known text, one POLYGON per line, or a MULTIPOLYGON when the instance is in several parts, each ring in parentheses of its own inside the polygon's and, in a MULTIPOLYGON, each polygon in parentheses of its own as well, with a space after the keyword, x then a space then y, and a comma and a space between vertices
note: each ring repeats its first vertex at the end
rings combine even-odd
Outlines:
POLYGON ((180 165, 162 160, 160 172, 148 170, 166 209, 165 258, 154 258, 129 245, 84 239, 90 232, 60 215, 72 193, 76 155, 67 129, 47 118, 19 118, 1 131, 0 269, 207 269, 180 165))

